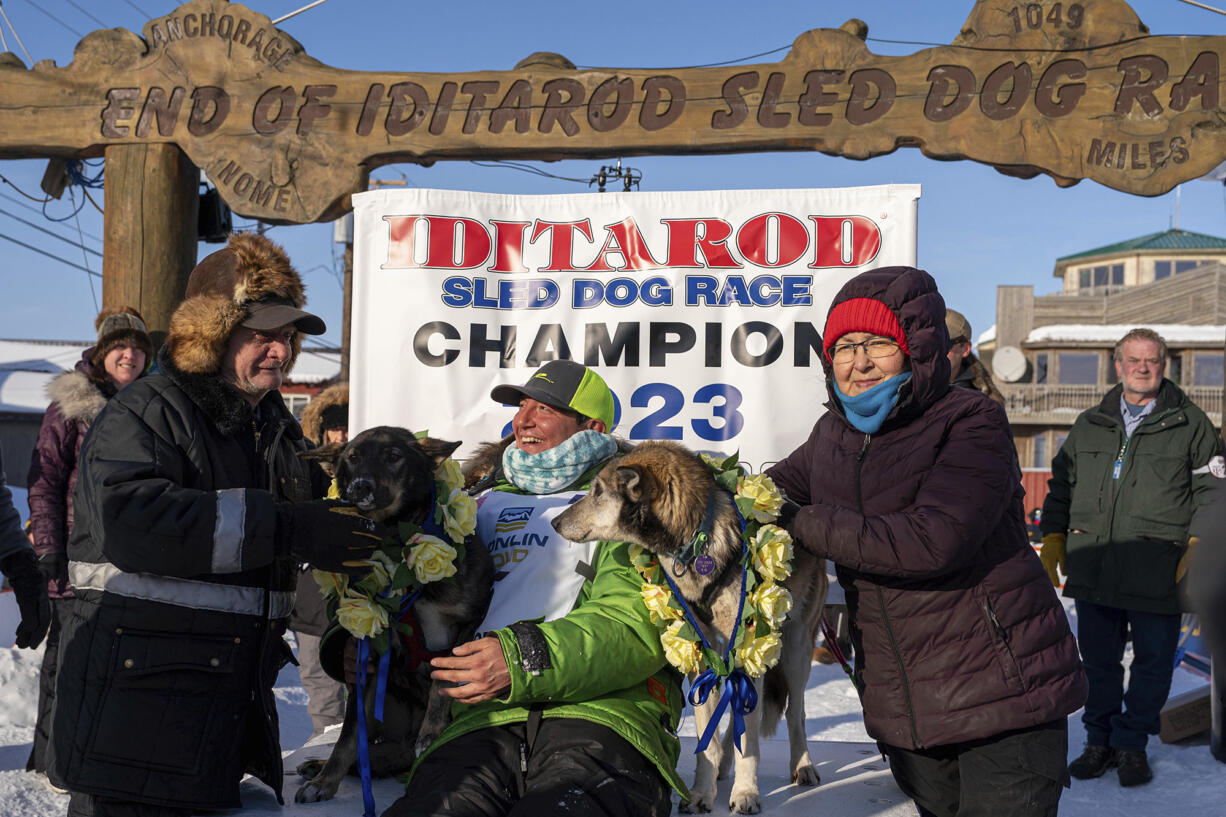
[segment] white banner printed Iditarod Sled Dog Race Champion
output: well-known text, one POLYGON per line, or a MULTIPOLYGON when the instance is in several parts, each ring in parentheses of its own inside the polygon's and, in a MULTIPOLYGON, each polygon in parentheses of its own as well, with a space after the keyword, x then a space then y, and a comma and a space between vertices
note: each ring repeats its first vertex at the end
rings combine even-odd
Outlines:
POLYGON ((614 433, 791 453, 828 395, 830 299, 857 272, 916 261, 918 185, 510 196, 353 196, 351 433, 463 440, 509 431, 494 404, 541 363, 593 367, 614 433))

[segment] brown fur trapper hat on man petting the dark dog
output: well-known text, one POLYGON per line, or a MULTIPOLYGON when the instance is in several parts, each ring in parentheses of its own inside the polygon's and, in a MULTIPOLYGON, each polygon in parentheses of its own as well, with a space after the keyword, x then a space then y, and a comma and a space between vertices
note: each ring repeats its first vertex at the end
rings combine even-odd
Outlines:
POLYGON ((293 368, 302 335, 322 335, 324 321, 303 312, 302 278, 286 251, 257 233, 235 233, 223 249, 205 256, 188 278, 183 303, 170 315, 166 346, 170 362, 189 374, 216 374, 238 326, 277 329, 293 324, 293 368))

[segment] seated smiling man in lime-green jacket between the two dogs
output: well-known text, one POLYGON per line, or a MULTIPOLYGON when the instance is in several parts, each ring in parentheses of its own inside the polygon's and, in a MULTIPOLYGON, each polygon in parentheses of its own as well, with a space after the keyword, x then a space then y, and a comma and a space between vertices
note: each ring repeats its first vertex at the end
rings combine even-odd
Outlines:
POLYGON ((677 777, 680 676, 664 660, 622 542, 570 542, 549 521, 618 453, 613 394, 550 361, 490 396, 517 406, 487 447, 477 535, 494 595, 474 640, 430 664, 455 682, 452 723, 384 817, 663 816, 677 777))

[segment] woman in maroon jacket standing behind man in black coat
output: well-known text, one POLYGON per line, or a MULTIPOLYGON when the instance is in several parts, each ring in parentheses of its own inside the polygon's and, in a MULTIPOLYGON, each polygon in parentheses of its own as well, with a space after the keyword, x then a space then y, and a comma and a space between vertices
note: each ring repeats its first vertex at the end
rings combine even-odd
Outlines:
POLYGON ((55 700, 55 672, 60 627, 72 597, 69 586, 67 543, 72 530, 72 489, 77 454, 89 424, 107 401, 142 377, 153 357, 145 320, 131 307, 103 309, 94 320, 98 341, 87 348, 71 372, 59 374, 47 386, 51 399, 29 462, 29 521, 38 567, 51 597, 51 629, 47 635, 39 678, 38 720, 34 746, 26 762, 29 772, 45 773, 50 710, 55 700))

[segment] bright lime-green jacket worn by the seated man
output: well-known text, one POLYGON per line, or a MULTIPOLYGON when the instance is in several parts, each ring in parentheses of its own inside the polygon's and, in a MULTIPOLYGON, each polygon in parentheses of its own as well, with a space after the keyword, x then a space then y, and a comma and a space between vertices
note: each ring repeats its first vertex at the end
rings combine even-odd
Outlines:
MULTIPOLYGON (((592 475, 573 487, 586 487, 585 480, 592 475)), ((522 493, 508 483, 495 489, 522 493)), ((642 579, 631 567, 624 542, 601 542, 595 568, 571 612, 538 624, 552 666, 539 673, 525 671, 515 634, 510 628, 499 629, 511 672, 510 693, 499 700, 452 704, 451 724, 417 758, 411 774, 449 740, 485 726, 525 721, 530 707, 536 707, 542 718, 582 718, 612 729, 689 799, 677 774, 682 676, 664 660, 660 632, 639 595, 642 579)))

